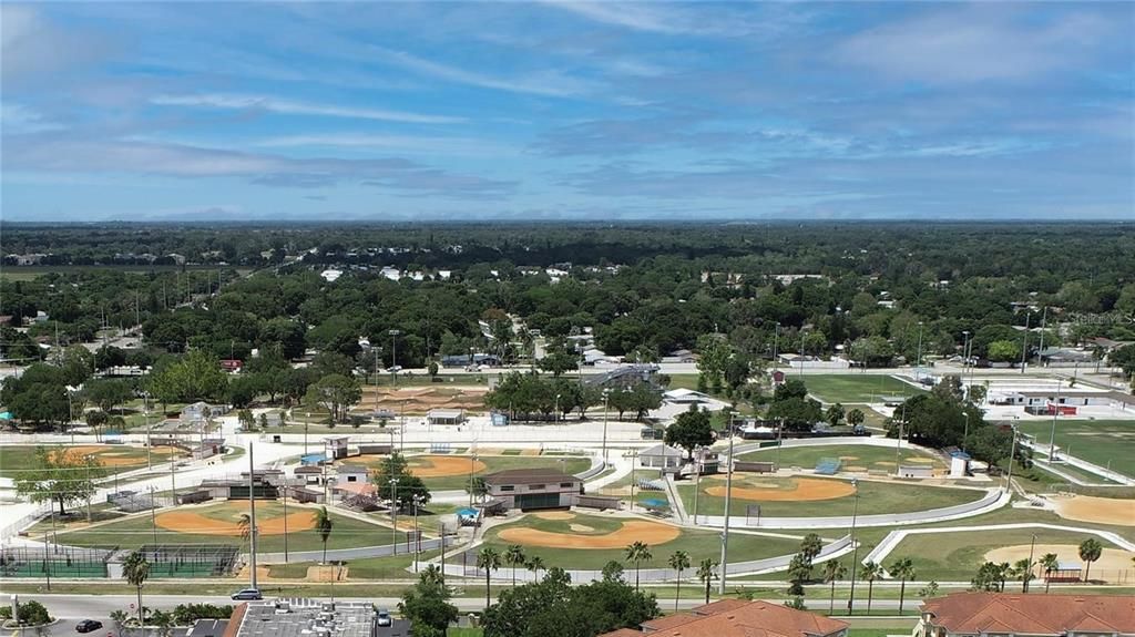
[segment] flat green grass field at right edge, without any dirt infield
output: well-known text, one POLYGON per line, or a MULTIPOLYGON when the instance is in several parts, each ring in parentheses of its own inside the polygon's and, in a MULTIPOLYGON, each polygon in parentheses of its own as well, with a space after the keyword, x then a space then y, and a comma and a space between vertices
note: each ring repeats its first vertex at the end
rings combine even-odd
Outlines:
MULTIPOLYGON (((1052 438, 1052 421, 1022 421, 1017 426, 1048 444, 1052 438)), ((1057 447, 1061 452, 1101 467, 1135 477, 1135 419, 1082 421, 1057 418, 1057 447)), ((1059 468, 1059 465, 1058 465, 1059 468)))

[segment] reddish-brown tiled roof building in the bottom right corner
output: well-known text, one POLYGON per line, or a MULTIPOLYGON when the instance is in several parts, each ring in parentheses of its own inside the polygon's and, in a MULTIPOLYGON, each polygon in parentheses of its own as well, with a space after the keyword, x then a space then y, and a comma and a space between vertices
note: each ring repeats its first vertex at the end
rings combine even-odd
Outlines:
POLYGON ((922 605, 914 635, 1135 635, 1135 596, 955 593, 922 605))

